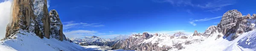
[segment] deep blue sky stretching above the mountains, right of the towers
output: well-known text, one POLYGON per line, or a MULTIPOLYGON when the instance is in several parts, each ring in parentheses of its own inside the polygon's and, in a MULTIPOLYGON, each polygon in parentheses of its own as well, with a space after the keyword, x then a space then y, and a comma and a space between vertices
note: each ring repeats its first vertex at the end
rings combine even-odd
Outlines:
POLYGON ((204 32, 228 10, 256 13, 256 0, 48 0, 67 37, 204 32))

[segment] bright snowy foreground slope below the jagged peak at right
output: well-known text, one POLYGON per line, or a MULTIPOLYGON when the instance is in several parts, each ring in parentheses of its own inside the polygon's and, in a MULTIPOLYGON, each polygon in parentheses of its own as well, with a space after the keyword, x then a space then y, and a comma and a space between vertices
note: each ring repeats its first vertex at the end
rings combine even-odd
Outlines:
MULTIPOLYGON (((218 33, 219 34, 219 33, 218 33)), ((185 49, 180 51, 255 51, 256 50, 256 30, 241 34, 235 40, 231 40, 231 36, 216 38, 207 38, 201 43, 187 45, 185 49)), ((223 35, 222 35, 223 36, 223 35)))

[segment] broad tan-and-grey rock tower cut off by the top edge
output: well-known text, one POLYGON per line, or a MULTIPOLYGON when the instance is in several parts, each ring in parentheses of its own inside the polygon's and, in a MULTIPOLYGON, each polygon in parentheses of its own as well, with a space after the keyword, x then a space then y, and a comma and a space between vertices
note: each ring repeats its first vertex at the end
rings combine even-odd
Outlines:
POLYGON ((6 28, 6 38, 19 29, 35 32, 41 38, 49 38, 46 4, 46 0, 13 0, 12 22, 6 28))

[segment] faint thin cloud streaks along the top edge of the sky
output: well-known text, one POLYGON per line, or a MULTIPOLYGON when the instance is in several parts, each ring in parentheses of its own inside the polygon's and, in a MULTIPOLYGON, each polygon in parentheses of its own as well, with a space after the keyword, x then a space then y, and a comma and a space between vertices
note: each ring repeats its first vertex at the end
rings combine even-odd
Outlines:
POLYGON ((221 8, 225 6, 230 6, 235 4, 234 0, 209 0, 209 1, 201 1, 202 3, 192 3, 193 0, 152 0, 157 3, 170 3, 172 6, 191 6, 193 8, 201 8, 205 11, 219 11, 221 8))

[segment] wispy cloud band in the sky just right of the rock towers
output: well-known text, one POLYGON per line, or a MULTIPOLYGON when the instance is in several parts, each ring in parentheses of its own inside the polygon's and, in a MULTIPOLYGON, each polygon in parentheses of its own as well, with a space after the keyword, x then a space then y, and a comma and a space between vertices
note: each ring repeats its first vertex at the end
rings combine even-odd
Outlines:
POLYGON ((102 23, 75 23, 75 21, 63 23, 64 30, 75 28, 75 27, 81 28, 81 27, 102 27, 102 26, 105 26, 105 25, 102 25, 102 23))

